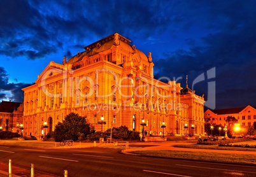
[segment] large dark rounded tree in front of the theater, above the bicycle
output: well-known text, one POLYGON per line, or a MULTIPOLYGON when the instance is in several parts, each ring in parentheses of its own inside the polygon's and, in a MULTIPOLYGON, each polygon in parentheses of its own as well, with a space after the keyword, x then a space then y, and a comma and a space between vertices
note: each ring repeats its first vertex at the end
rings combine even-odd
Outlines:
POLYGON ((85 117, 81 117, 76 113, 66 115, 63 122, 55 125, 55 141, 62 141, 62 139, 76 141, 78 138, 82 138, 81 134, 85 137, 90 134, 90 125, 86 123, 85 117))

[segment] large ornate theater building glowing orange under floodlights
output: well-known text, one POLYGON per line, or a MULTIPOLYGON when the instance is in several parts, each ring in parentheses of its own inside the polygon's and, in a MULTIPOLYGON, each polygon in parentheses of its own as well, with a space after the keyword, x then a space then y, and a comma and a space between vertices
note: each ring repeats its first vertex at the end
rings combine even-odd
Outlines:
POLYGON ((165 135, 203 134, 204 98, 176 81, 154 79, 151 53, 130 42, 115 33, 62 64, 50 62, 34 85, 22 89, 24 135, 52 132, 71 112, 86 117, 96 131, 104 117, 103 131, 120 125, 142 131, 144 120, 147 136, 161 136, 163 122, 165 135))

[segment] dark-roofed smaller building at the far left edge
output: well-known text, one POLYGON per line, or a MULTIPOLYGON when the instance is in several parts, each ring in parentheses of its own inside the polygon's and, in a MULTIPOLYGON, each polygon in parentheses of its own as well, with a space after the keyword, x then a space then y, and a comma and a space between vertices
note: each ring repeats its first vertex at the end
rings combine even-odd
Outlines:
POLYGON ((0 103, 1 131, 20 132, 22 124, 23 103, 2 101, 0 103))

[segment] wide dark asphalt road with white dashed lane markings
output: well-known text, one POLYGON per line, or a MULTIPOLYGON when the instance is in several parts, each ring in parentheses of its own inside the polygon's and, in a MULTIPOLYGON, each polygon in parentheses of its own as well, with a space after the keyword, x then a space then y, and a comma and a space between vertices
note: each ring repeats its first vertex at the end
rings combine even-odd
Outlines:
POLYGON ((141 157, 118 148, 43 149, 0 146, 0 161, 52 176, 256 176, 255 166, 141 157))

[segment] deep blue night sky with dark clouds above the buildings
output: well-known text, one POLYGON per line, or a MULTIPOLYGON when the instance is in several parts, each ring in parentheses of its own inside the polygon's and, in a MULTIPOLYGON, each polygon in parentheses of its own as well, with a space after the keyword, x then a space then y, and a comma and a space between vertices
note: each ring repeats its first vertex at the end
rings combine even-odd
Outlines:
POLYGON ((22 102, 21 88, 50 61, 61 64, 118 32, 152 52, 155 78, 185 88, 188 75, 188 87, 214 102, 211 109, 256 106, 255 7, 249 0, 1 0, 0 101, 22 102))

